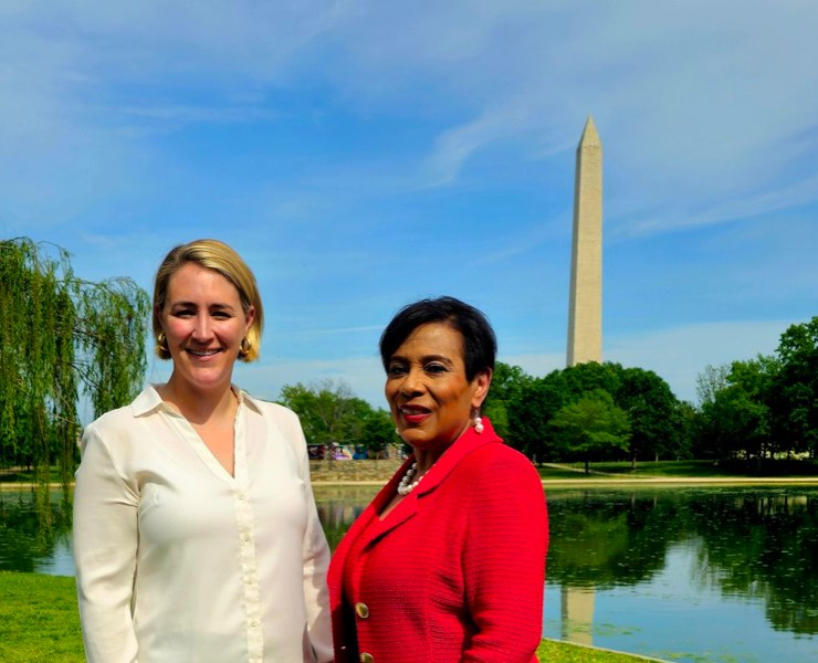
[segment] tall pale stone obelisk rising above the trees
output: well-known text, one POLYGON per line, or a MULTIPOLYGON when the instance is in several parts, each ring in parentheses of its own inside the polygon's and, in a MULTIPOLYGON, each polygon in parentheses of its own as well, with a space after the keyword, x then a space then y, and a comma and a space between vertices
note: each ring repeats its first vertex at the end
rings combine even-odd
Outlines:
POLYGON ((602 144, 590 116, 575 177, 566 366, 602 362, 602 144))

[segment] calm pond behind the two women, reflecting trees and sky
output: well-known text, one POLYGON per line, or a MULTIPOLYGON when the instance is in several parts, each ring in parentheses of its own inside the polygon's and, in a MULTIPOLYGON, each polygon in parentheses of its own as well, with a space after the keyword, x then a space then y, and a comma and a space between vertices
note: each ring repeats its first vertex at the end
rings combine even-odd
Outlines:
MULTIPOLYGON (((374 487, 316 487, 333 547, 374 487)), ((548 488, 543 634, 668 661, 818 661, 818 487, 548 488)), ((60 494, 0 493, 0 569, 72 575, 60 494)))

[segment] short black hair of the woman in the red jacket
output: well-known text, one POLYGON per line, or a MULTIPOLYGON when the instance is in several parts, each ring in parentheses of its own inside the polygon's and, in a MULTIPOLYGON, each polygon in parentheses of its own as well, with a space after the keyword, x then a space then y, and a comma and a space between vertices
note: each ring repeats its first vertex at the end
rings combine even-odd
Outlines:
POLYGON ((388 370, 389 360, 400 345, 421 325, 444 323, 463 337, 465 379, 470 382, 484 370, 494 370, 497 338, 485 315, 454 297, 420 299, 403 306, 380 335, 380 360, 388 370))

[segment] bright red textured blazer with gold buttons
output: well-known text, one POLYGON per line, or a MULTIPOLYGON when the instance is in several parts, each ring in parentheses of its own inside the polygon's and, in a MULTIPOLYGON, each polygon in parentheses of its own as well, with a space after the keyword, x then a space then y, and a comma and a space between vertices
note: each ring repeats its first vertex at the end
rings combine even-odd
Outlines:
POLYGON ((409 459, 342 539, 328 573, 336 663, 536 662, 545 493, 531 462, 483 424, 381 522, 409 459), (349 557, 360 536, 360 555, 349 557), (342 590, 348 559, 349 602, 342 590))

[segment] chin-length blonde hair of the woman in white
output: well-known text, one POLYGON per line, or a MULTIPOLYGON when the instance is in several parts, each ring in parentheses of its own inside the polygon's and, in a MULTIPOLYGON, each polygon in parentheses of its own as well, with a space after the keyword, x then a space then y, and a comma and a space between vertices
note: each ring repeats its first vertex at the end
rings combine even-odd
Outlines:
POLYGON ((165 308, 168 296, 168 283, 170 282, 170 277, 188 263, 195 263, 208 270, 213 270, 232 283, 235 290, 239 291, 241 307, 244 309, 245 315, 251 307, 255 309, 255 318, 248 330, 247 343, 242 341, 242 346, 247 348, 249 345, 249 348, 247 348, 247 351, 239 354, 239 359, 242 361, 254 361, 258 359, 259 351, 261 350, 261 333, 264 328, 264 311, 261 305, 259 287, 255 285, 255 276, 253 276, 253 272, 242 257, 219 240, 195 240, 187 244, 179 244, 170 250, 170 253, 165 256, 165 260, 161 261, 159 269, 156 271, 156 278, 154 280, 153 328, 154 338, 157 339, 156 354, 158 357, 160 359, 170 359, 170 351, 167 345, 158 341, 159 335, 162 334, 159 312, 165 308))

